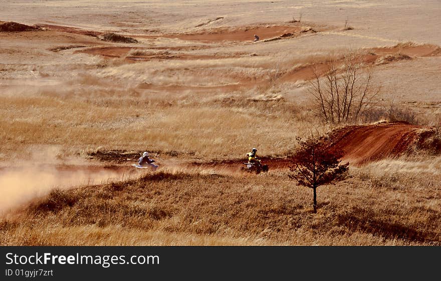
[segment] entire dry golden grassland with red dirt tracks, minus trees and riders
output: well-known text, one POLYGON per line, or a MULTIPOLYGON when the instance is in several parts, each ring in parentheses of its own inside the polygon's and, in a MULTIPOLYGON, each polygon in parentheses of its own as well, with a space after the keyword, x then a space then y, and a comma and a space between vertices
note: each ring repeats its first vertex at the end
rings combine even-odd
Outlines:
POLYGON ((0 7, 0 245, 441 245, 437 1, 0 7), (378 93, 324 122, 348 54, 378 93), (313 214, 289 165, 334 129, 349 177, 313 214))

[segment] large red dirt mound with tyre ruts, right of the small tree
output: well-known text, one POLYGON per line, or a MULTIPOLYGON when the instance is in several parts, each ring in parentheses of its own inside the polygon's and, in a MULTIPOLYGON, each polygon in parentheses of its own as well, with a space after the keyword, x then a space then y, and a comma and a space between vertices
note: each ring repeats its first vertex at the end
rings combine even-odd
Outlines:
POLYGON ((441 146, 435 140, 430 140, 434 135, 435 131, 430 128, 407 123, 348 126, 329 134, 333 141, 331 149, 342 150, 345 155, 343 159, 352 164, 363 164, 420 150, 439 153, 441 146))

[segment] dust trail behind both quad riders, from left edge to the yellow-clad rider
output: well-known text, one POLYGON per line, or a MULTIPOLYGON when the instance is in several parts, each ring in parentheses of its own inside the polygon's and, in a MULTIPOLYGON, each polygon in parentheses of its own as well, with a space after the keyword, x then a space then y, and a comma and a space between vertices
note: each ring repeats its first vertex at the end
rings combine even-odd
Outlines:
MULTIPOLYGON (((14 166, 0 167, 0 217, 15 210, 25 208, 33 200, 49 194, 54 188, 62 190, 121 181, 138 177, 149 171, 141 171, 128 166, 111 168, 86 163, 82 159, 70 159, 60 164, 56 155, 58 149, 39 149, 32 153, 32 159, 39 158, 40 163, 30 166, 26 163, 14 163, 14 166), (54 151, 52 151, 54 150, 54 151), (44 160, 43 160, 44 159, 44 160), (44 161, 45 163, 41 163, 44 161)), ((224 167, 187 167, 179 161, 164 161, 166 172, 193 172, 199 174, 232 174, 231 168, 224 167)))

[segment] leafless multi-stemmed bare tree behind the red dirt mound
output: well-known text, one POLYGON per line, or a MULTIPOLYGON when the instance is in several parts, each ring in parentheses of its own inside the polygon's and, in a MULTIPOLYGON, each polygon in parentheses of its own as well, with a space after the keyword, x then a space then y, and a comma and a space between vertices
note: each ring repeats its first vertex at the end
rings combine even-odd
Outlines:
POLYGON ((373 67, 354 53, 313 67, 309 92, 317 114, 332 124, 356 122, 373 106, 379 87, 373 86, 373 67))

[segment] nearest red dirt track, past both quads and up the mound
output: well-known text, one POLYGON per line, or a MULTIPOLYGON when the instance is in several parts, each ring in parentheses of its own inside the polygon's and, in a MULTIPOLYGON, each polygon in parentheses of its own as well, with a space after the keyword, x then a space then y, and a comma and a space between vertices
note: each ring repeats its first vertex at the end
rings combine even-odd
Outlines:
MULTIPOLYGON (((362 165, 368 162, 394 158, 405 153, 412 153, 420 149, 430 149, 433 153, 440 153, 439 143, 433 143, 424 147, 424 143, 435 134, 433 130, 424 126, 410 125, 402 122, 378 123, 371 125, 347 126, 336 129, 330 133, 333 139, 331 149, 342 150, 343 161, 349 161, 352 165, 362 165)), ((158 154, 160 158, 160 154, 158 154)), ((105 162, 116 162, 121 164, 121 155, 115 153, 95 155, 96 159, 105 162), (105 156, 105 157, 104 157, 105 156)), ((273 158, 261 157, 262 163, 268 165, 270 170, 286 170, 295 158, 273 158)), ((161 161, 160 167, 166 167, 170 160, 161 161)), ((174 162, 173 165, 180 168, 201 168, 212 170, 225 170, 230 172, 240 171, 240 167, 246 159, 220 160, 212 162, 174 162)))

